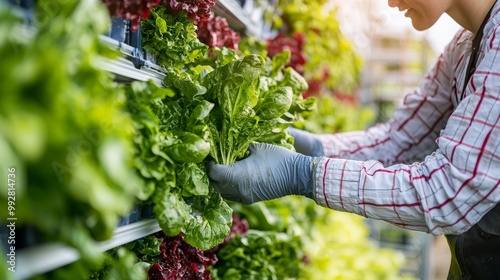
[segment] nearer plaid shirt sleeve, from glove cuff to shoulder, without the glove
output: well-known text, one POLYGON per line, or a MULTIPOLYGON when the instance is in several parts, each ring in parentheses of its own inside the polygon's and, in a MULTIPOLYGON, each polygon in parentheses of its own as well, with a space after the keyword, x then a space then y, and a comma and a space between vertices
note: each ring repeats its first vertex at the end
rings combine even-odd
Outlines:
MULTIPOLYGON (((500 29, 486 45, 434 153, 411 165, 322 158, 314 168, 316 202, 433 234, 477 223, 500 201, 500 29)), ((425 120, 419 110, 413 115, 398 130, 411 132, 409 125, 425 120)))

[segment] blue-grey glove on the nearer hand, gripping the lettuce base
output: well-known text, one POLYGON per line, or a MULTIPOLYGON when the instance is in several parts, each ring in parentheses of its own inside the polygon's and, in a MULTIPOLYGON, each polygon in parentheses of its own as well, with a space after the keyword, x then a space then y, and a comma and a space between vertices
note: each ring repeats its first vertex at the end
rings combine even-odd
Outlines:
POLYGON ((223 198, 244 204, 286 195, 312 197, 312 157, 280 146, 253 143, 250 155, 232 165, 211 162, 211 185, 223 198))

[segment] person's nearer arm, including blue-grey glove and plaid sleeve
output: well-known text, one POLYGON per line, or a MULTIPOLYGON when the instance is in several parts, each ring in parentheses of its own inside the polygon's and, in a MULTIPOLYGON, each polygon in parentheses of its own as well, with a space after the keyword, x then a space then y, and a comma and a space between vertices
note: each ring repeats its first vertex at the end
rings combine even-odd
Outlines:
MULTIPOLYGON (((497 32, 489 46, 500 45, 497 32)), ((319 205, 408 229, 461 233, 500 201, 497 52, 498 47, 483 51, 467 97, 437 139, 438 149, 422 162, 384 165, 376 160, 312 158, 257 145, 233 165, 209 166, 212 184, 223 197, 244 203, 305 195, 319 205)))

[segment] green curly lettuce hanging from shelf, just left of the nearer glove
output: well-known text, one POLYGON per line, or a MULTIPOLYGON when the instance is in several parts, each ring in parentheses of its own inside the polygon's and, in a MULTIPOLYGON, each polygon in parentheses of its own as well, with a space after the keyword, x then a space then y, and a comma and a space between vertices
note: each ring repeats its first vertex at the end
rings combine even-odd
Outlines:
MULTIPOLYGON (((179 80, 177 85, 201 90, 184 82, 179 80)), ((205 140, 208 128, 204 119, 211 104, 190 91, 178 95, 152 82, 132 83, 127 92, 137 128, 136 167, 146 186, 142 199, 153 203, 166 235, 182 232, 186 242, 195 247, 206 250, 216 246, 229 234, 232 211, 209 187, 201 163, 210 147, 205 140)))

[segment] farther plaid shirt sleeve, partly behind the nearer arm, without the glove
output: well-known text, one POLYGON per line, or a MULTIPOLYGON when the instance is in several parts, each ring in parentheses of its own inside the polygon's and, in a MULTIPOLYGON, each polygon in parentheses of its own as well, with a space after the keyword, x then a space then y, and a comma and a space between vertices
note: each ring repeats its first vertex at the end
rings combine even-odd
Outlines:
POLYGON ((454 73, 463 60, 468 36, 465 30, 457 32, 420 88, 404 97, 391 120, 366 131, 315 135, 320 147, 316 150, 326 157, 376 159, 384 165, 424 160, 437 149, 435 140, 454 108, 450 92, 456 87, 454 73))

